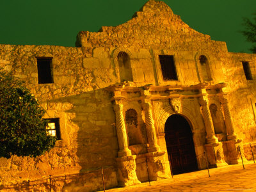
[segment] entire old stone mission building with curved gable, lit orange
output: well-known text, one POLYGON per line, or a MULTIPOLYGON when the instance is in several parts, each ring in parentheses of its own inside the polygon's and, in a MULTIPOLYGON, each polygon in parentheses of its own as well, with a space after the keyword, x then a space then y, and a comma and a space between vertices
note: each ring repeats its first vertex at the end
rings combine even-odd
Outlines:
POLYGON ((76 47, 0 44, 0 67, 25 81, 58 137, 43 156, 1 157, 0 190, 47 191, 52 175, 52 191, 97 191, 102 170, 106 188, 168 179, 207 168, 204 152, 212 168, 240 163, 239 148, 252 160, 255 66, 256 54, 228 52, 156 0, 80 31, 76 47))

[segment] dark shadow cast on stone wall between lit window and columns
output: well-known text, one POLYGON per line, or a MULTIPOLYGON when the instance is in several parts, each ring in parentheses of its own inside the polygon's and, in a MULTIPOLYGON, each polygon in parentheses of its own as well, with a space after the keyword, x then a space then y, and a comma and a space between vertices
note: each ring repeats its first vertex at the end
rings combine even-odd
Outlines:
POLYGON ((65 130, 61 132, 68 137, 71 150, 76 151, 75 170, 79 170, 79 174, 65 180, 63 189, 102 190, 101 168, 104 170, 106 188, 117 186, 118 143, 115 113, 110 99, 111 93, 99 89, 52 100, 72 104, 72 108, 65 111, 67 118, 62 128, 65 130))

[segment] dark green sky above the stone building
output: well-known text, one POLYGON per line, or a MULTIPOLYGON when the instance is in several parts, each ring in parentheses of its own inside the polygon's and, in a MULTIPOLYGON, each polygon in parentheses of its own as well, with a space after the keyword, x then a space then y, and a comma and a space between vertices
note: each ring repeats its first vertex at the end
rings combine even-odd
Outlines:
MULTIPOLYGON (((79 31, 98 31, 131 19, 147 0, 0 0, 0 44, 74 46, 79 31)), ((191 28, 250 52, 239 30, 256 0, 164 0, 191 28)))

